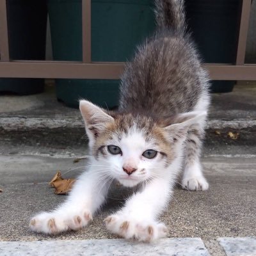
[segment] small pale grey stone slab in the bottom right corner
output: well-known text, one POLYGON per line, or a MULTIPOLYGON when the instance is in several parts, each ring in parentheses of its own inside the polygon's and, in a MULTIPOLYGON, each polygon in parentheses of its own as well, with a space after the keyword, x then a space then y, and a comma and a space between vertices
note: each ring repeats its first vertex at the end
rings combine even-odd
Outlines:
POLYGON ((256 237, 221 237, 218 242, 227 256, 256 255, 256 237))

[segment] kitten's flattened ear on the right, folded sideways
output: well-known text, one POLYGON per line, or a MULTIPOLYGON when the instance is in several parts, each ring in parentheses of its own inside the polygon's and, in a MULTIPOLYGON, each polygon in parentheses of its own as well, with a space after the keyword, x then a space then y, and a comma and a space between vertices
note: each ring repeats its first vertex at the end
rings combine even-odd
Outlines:
POLYGON ((164 127, 164 130, 171 135, 170 138, 172 138, 173 142, 184 140, 192 125, 199 125, 200 122, 204 122, 206 115, 206 111, 191 111, 178 114, 173 116, 172 124, 164 127))

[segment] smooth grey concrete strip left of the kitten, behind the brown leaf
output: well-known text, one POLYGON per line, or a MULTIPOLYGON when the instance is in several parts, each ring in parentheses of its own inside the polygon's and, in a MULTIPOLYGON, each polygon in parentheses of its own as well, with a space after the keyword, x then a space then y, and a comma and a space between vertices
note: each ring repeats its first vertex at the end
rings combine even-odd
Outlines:
POLYGON ((87 159, 74 163, 76 157, 44 157, 28 155, 0 155, 0 184, 33 185, 49 182, 54 173, 63 177, 77 177, 87 166, 87 159))

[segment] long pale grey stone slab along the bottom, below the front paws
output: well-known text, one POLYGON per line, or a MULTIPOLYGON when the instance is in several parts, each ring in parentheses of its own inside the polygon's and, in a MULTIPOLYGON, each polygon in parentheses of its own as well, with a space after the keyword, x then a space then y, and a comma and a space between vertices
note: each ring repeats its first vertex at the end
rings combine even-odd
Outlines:
POLYGON ((123 239, 0 242, 1 256, 210 256, 200 238, 160 239, 134 243, 123 239))

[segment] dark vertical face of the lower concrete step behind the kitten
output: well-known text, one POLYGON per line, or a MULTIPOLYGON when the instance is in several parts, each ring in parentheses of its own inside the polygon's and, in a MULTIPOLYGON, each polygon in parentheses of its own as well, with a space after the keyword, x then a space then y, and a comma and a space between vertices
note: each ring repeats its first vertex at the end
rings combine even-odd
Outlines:
MULTIPOLYGON (((45 131, 0 131, 0 155, 20 154, 51 157, 83 157, 88 154, 84 129, 48 129, 45 131)), ((203 157, 252 157, 256 155, 256 132, 239 131, 233 140, 228 131, 207 132, 203 157)))

